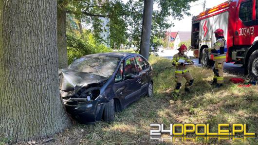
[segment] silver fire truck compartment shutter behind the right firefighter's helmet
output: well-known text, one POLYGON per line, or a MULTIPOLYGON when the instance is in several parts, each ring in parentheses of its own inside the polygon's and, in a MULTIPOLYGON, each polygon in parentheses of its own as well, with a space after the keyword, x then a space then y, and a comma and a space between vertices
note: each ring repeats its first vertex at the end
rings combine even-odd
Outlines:
MULTIPOLYGON (((213 17, 213 32, 219 28, 221 28, 224 31, 224 37, 227 40, 228 11, 213 17)), ((215 41, 216 37, 215 35, 212 35, 212 44, 215 43, 215 41)))

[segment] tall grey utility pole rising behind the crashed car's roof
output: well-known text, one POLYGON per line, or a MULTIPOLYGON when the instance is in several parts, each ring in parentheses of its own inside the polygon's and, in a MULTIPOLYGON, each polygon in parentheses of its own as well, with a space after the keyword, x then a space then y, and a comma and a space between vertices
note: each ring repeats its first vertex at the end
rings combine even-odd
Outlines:
POLYGON ((143 55, 147 60, 149 56, 152 11, 153 11, 153 0, 144 0, 140 54, 143 55))

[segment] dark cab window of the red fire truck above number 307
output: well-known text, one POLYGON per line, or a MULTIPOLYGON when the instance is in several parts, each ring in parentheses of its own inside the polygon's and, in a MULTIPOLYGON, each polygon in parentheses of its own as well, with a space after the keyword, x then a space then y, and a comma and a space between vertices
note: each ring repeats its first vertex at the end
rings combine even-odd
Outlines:
POLYGON ((239 18, 245 22, 252 20, 253 17, 253 0, 241 3, 239 18))

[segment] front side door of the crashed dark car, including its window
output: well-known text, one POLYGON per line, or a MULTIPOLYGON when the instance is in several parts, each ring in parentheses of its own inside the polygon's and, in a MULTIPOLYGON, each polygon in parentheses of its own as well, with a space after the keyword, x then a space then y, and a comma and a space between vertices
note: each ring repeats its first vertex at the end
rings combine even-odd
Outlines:
MULTIPOLYGON (((120 103, 122 106, 128 106, 136 101, 141 94, 140 75, 136 68, 137 64, 134 56, 129 56, 124 61, 123 71, 123 94, 120 95, 120 103), (127 75, 133 74, 133 78, 126 78, 127 75)), ((120 92, 121 93, 121 92, 120 92)))

